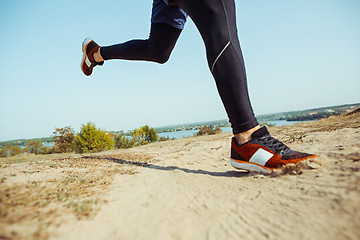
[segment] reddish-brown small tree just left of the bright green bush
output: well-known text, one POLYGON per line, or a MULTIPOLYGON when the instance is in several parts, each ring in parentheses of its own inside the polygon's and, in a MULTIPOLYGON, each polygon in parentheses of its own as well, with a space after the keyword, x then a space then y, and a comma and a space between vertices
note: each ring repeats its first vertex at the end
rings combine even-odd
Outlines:
POLYGON ((56 152, 72 152, 74 151, 73 141, 75 132, 71 127, 56 128, 54 134, 56 152))

